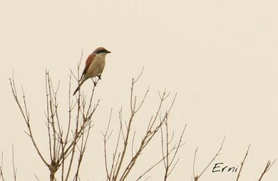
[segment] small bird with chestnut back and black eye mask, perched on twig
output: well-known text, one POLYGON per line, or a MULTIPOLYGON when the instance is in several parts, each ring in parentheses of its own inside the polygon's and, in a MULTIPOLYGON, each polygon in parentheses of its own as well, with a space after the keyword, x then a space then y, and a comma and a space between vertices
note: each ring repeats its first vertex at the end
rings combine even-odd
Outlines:
MULTIPOLYGON (((104 47, 98 47, 95 49, 92 54, 90 54, 86 60, 85 68, 82 72, 79 86, 77 86, 76 90, 74 91, 74 94, 76 94, 77 91, 79 91, 80 87, 89 78, 93 77, 99 77, 101 79, 101 73, 104 71, 105 66, 105 57, 107 54, 110 54, 111 52, 105 49, 104 47)), ((95 86, 97 83, 94 81, 95 86)))

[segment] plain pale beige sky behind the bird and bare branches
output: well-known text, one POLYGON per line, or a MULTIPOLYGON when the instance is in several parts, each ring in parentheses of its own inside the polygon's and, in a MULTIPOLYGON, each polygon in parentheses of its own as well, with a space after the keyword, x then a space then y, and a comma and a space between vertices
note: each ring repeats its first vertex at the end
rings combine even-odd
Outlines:
MULTIPOLYGON (((66 104, 69 69, 75 70, 81 48, 86 57, 104 46, 112 54, 106 58, 96 95, 101 107, 83 163, 84 180, 104 180, 101 129, 111 107, 128 109, 131 78, 143 66, 137 93, 147 86, 151 92, 142 111, 154 111, 158 90, 177 91, 172 129, 180 132, 188 124, 188 143, 170 180, 191 180, 197 145, 199 171, 224 135, 227 140, 215 163, 239 165, 251 143, 242 180, 258 179, 267 160, 275 159, 278 152, 277 7, 277 1, 257 0, 0 1, 0 150, 4 151, 7 177, 12 175, 12 143, 19 180, 35 180, 33 173, 41 180, 48 177, 23 132, 24 121, 8 84, 12 71, 18 88, 24 87, 35 138, 44 149, 44 70, 60 80, 60 102, 66 104)), ((83 90, 89 92, 90 84, 84 84, 83 90)), ((139 124, 138 129, 143 126, 139 124)), ((160 147, 152 149, 143 160, 161 154, 160 147)), ((273 166, 265 180, 277 180, 277 169, 273 166)), ((211 170, 208 168, 202 180, 236 177, 235 173, 211 170)), ((160 180, 160 171, 161 167, 154 170, 149 180, 160 180)))

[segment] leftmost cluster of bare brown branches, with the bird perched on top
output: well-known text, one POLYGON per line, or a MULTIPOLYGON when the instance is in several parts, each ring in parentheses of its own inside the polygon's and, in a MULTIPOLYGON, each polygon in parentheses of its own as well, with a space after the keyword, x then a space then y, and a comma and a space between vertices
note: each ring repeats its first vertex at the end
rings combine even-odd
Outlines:
MULTIPOLYGON (((81 59, 83 55, 83 50, 81 53, 81 59)), ((49 157, 50 162, 48 163, 44 156, 40 152, 37 143, 33 138, 33 133, 31 129, 30 116, 28 113, 28 108, 26 105, 26 98, 24 95, 24 91, 22 89, 22 97, 23 104, 21 104, 17 98, 17 91, 15 88, 14 78, 10 79, 10 87, 15 98, 15 102, 17 102, 17 106, 19 107, 19 111, 22 113, 24 121, 27 125, 26 134, 31 138, 31 141, 35 147, 35 150, 38 152, 38 155, 42 159, 42 162, 49 168, 50 172, 50 180, 56 180, 55 174, 58 169, 61 168, 61 180, 67 181, 70 178, 70 173, 72 172, 72 165, 74 162, 74 157, 78 157, 77 167, 75 172, 75 180, 79 180, 79 170, 81 168, 81 162, 83 160, 83 155, 86 150, 86 145, 88 143, 88 136, 90 134, 90 129, 92 128, 92 116, 95 113, 99 100, 96 103, 93 103, 93 97, 95 93, 95 86, 92 88, 92 93, 90 95, 90 99, 87 99, 87 96, 79 93, 76 96, 76 100, 71 100, 71 81, 72 77, 77 78, 79 80, 80 74, 80 65, 81 59, 78 64, 78 72, 77 77, 70 71, 70 81, 69 81, 69 119, 66 125, 66 131, 63 130, 64 121, 60 120, 58 113, 58 91, 60 81, 58 81, 58 85, 54 88, 53 81, 49 75, 49 71, 45 72, 45 91, 46 91, 46 100, 47 100, 47 110, 44 111, 44 115, 47 118, 46 127, 47 127, 47 136, 48 136, 48 149, 49 149, 49 157), (72 111, 76 111, 76 121, 75 124, 72 124, 72 111), (72 128, 72 129, 71 129, 72 128), (72 134, 70 134, 72 132, 72 134), (79 151, 76 152, 76 148, 79 148, 79 151), (69 159, 65 162, 66 159, 69 159)), ((13 155, 14 157, 14 155, 13 155)), ((14 178, 16 180, 16 169, 15 169, 15 161, 14 164, 14 178)), ((1 168, 2 171, 2 168, 1 168)), ((36 176, 35 176, 36 177, 36 176)), ((38 178, 37 178, 38 180, 38 178)))

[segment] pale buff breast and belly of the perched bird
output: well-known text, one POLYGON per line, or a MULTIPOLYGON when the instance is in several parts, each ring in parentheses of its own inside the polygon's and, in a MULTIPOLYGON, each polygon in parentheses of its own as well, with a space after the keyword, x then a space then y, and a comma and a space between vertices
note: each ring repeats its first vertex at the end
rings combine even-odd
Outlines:
POLYGON ((105 56, 97 55, 86 72, 87 77, 96 77, 104 70, 105 56))

